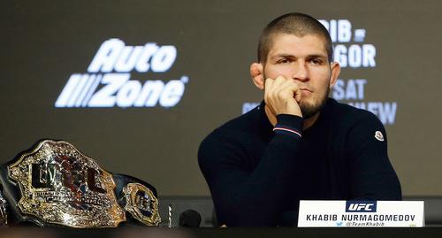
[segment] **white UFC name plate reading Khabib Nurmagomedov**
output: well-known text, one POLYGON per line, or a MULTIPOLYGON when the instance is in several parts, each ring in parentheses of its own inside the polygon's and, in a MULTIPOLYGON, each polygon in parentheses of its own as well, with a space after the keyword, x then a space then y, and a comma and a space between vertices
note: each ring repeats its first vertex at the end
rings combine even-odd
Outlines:
POLYGON ((300 201, 299 227, 423 227, 423 201, 300 201))

